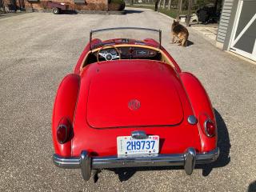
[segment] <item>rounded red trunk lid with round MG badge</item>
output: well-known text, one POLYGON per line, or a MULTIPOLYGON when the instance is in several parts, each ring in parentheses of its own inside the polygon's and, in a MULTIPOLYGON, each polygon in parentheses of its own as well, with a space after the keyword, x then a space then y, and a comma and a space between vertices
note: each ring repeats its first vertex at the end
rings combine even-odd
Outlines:
POLYGON ((90 126, 174 126, 182 122, 177 92, 180 84, 174 70, 160 62, 145 66, 105 73, 101 70, 91 78, 86 114, 90 126))

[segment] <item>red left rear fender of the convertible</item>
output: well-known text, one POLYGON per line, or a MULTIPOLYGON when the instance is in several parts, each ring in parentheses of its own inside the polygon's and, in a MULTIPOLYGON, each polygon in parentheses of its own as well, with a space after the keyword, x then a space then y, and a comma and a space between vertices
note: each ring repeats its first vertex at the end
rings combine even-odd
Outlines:
POLYGON ((67 118, 71 125, 74 124, 74 111, 76 108, 78 92, 80 89, 80 77, 77 74, 68 74, 63 78, 54 102, 52 117, 52 137, 55 154, 64 157, 71 155, 71 141, 60 144, 57 140, 58 124, 62 118, 67 118))

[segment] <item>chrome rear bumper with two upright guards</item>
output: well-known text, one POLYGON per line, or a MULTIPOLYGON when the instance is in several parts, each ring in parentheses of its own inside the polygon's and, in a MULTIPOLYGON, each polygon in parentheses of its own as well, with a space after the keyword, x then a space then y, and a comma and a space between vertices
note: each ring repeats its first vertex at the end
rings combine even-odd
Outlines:
POLYGON ((80 157, 64 158, 54 154, 54 165, 61 168, 80 168, 82 177, 90 179, 91 170, 135 166, 184 166, 186 174, 193 173, 195 164, 206 164, 217 160, 218 147, 207 153, 196 154, 194 148, 188 148, 184 154, 148 154, 138 156, 108 156, 91 158, 86 150, 80 157))

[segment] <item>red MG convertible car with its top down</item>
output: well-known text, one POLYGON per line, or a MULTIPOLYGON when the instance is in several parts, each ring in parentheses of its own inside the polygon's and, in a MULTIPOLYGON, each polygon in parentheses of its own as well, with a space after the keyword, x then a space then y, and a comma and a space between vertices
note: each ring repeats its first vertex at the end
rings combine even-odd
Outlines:
POLYGON ((214 110, 202 84, 161 46, 161 30, 135 40, 92 38, 54 102, 54 164, 92 170, 184 166, 218 158, 214 110))

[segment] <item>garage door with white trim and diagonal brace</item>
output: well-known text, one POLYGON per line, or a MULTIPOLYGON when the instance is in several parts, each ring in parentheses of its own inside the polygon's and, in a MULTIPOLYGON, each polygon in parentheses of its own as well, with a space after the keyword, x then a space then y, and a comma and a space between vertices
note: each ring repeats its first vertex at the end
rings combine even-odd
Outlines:
POLYGON ((256 0, 240 0, 230 51, 256 61, 256 0))

